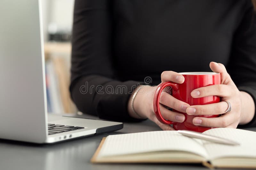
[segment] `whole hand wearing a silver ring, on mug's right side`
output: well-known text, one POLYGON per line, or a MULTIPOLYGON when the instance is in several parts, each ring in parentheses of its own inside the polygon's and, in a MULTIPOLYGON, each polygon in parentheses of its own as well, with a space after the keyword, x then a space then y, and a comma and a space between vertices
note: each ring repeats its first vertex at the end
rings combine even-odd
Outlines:
POLYGON ((220 73, 221 84, 195 89, 191 92, 191 96, 194 98, 220 96, 221 102, 189 106, 186 112, 188 115, 222 114, 220 117, 212 118, 194 117, 193 124, 198 126, 236 128, 241 119, 242 93, 237 89, 223 64, 211 62, 210 67, 213 72, 220 73), (228 104, 224 101, 231 103, 232 109, 228 113, 225 113, 228 108, 228 104))

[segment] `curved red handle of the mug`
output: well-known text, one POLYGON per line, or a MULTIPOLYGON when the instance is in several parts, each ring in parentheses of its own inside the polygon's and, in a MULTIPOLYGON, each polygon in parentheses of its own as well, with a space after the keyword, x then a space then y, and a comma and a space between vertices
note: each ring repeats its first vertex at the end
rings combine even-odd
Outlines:
POLYGON ((154 96, 154 101, 153 101, 153 106, 154 106, 154 112, 156 115, 156 118, 163 124, 173 124, 172 121, 170 120, 166 120, 162 117, 161 112, 160 112, 160 108, 159 108, 159 99, 160 99, 160 95, 163 91, 163 89, 167 86, 172 87, 172 93, 173 91, 176 91, 178 93, 178 85, 176 83, 173 83, 171 81, 168 82, 163 82, 161 83, 155 92, 155 96, 154 96))

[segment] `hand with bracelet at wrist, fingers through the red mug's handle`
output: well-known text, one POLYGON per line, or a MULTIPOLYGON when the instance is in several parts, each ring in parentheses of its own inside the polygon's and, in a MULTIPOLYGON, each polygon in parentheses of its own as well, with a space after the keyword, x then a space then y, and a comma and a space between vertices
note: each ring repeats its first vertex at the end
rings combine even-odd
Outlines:
MULTIPOLYGON (((175 83, 183 83, 184 77, 183 75, 173 71, 164 71, 161 74, 161 81, 162 82, 172 81, 175 83)), ((145 86, 145 85, 141 85, 141 86, 142 87, 140 88, 133 102, 133 108, 138 113, 138 115, 134 113, 132 110, 133 94, 130 96, 129 103, 128 103, 129 114, 132 117, 138 118, 138 119, 148 118, 151 121, 155 122, 163 130, 174 130, 170 125, 159 122, 155 116, 154 108, 153 108, 153 100, 154 100, 154 95, 158 86, 145 86)), ((135 89, 134 92, 136 90, 137 89, 135 89)), ((162 116, 167 120, 170 120, 173 122, 183 122, 185 120, 185 116, 183 114, 168 110, 167 107, 186 113, 186 109, 188 106, 189 106, 188 103, 182 102, 174 98, 173 96, 171 96, 165 91, 163 91, 160 96, 160 111, 162 116)))

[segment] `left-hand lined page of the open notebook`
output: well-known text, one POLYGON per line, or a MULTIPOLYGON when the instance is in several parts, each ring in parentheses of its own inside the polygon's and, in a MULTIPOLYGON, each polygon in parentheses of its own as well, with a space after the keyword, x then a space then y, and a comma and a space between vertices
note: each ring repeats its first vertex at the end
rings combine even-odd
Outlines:
POLYGON ((207 153, 202 142, 182 136, 177 131, 150 131, 110 135, 99 152, 99 157, 156 151, 185 151, 203 157, 207 153))

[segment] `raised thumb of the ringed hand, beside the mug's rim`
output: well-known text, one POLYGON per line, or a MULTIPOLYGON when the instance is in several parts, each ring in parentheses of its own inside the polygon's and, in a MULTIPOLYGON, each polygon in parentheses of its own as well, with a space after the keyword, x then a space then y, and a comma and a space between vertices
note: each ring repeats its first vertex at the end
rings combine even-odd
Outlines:
POLYGON ((211 62, 210 68, 213 72, 220 73, 221 84, 235 85, 223 64, 211 62))

